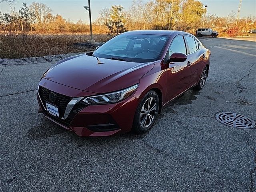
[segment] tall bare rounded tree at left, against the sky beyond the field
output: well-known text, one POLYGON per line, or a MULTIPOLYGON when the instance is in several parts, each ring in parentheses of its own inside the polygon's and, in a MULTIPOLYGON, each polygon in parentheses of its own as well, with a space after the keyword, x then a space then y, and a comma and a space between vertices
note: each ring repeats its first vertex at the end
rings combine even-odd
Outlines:
POLYGON ((46 28, 46 23, 52 18, 52 10, 45 4, 33 2, 30 9, 36 16, 36 20, 42 30, 46 28))

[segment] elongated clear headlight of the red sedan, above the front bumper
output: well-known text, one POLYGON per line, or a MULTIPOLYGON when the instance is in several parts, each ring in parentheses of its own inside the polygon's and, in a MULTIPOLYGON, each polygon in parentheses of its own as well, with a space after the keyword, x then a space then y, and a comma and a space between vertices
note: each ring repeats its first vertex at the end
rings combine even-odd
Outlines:
POLYGON ((124 100, 128 96, 130 96, 136 90, 138 85, 139 84, 136 84, 136 85, 126 88, 124 90, 120 90, 120 91, 113 92, 113 93, 87 97, 83 101, 89 105, 98 105, 98 104, 119 102, 121 100, 124 100))

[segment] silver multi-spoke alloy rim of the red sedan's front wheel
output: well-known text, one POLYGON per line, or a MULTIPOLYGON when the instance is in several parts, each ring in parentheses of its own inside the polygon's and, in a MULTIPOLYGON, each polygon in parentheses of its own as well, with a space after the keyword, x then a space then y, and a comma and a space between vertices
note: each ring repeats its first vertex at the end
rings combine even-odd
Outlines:
POLYGON ((140 112, 140 125, 146 129, 150 126, 156 117, 157 103, 155 98, 150 97, 144 102, 140 112))

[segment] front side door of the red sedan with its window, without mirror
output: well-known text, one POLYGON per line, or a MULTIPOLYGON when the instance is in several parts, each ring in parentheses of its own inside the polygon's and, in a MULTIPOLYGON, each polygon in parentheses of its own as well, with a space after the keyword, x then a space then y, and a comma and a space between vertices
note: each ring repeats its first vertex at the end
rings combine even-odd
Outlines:
MULTIPOLYGON (((166 54, 166 58, 170 58, 173 53, 183 53, 187 55, 184 36, 179 35, 172 40, 172 44, 166 54)), ((191 75, 190 56, 184 62, 170 63, 167 72, 167 100, 171 100, 180 93, 188 89, 191 75)))

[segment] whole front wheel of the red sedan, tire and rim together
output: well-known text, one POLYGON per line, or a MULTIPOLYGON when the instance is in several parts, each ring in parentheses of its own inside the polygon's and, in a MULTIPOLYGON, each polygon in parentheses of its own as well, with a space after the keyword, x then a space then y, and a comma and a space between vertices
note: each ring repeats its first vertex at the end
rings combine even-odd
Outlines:
POLYGON ((151 90, 142 98, 135 112, 133 130, 137 134, 143 134, 150 130, 156 121, 159 110, 158 94, 151 90), (148 104, 150 102, 150 108, 148 104))

